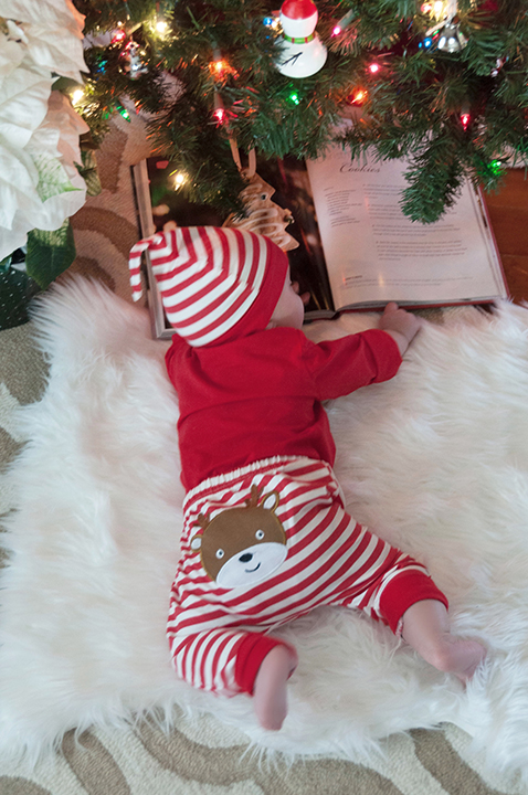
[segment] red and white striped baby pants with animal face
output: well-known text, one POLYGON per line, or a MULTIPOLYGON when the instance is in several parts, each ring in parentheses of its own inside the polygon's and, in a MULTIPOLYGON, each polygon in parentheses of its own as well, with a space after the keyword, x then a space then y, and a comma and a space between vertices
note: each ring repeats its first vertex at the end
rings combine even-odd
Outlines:
POLYGON ((393 632, 421 600, 447 601, 426 569, 358 524, 331 467, 277 457, 210 478, 184 502, 168 638, 178 676, 253 691, 283 643, 270 630, 319 605, 365 611, 393 632))

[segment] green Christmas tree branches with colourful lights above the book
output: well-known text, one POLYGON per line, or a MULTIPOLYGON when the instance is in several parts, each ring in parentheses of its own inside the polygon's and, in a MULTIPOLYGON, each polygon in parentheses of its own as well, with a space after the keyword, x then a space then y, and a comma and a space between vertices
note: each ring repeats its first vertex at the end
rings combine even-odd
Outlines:
MULTIPOLYGON (((506 163, 526 161, 526 0, 318 0, 327 55, 302 77, 277 67, 300 38, 285 35, 268 2, 74 2, 89 67, 76 107, 94 139, 114 113, 151 114, 182 189, 225 213, 243 188, 234 144, 258 158, 311 158, 332 141, 351 156, 405 157, 402 209, 422 222, 454 203, 465 178, 492 190, 506 163), (337 131, 344 116, 351 126, 337 131)), ((308 7, 287 0, 283 11, 308 7)))

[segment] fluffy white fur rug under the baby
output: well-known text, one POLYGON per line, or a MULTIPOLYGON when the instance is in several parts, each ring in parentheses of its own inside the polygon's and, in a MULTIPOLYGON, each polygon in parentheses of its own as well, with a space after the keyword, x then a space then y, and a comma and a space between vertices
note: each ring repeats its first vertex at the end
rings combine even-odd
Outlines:
MULTIPOLYGON (((80 280, 36 317, 51 361, 11 473, 2 573, 0 745, 34 757, 72 727, 175 704, 213 712, 260 748, 358 759, 384 735, 451 721, 496 766, 528 775, 528 310, 501 304, 427 324, 399 374, 330 407, 349 509, 423 560, 453 623, 489 655, 466 691, 362 615, 324 608, 283 629, 300 664, 278 733, 251 699, 175 678, 165 637, 178 559, 177 403, 145 310, 80 280)), ((347 316, 309 329, 376 325, 347 316)))

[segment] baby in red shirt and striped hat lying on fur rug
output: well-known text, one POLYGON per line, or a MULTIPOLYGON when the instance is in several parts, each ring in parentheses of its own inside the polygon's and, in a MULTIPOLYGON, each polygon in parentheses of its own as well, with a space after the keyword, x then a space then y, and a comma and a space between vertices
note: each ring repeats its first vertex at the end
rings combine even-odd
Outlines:
POLYGON ((146 248, 176 330, 166 362, 187 489, 168 621, 178 676, 253 696, 260 723, 277 730, 297 655, 273 629, 331 604, 363 611, 468 679, 485 649, 450 634, 426 569, 346 512, 321 403, 391 379, 419 319, 389 304, 378 329, 315 344, 284 252, 212 226, 137 244, 135 298, 146 248))

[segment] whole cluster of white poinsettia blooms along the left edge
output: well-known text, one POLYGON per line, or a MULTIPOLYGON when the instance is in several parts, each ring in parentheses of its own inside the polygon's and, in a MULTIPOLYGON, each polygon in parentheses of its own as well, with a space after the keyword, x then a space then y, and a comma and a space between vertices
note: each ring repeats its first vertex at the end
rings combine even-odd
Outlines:
POLYGON ((0 261, 33 229, 53 231, 84 204, 78 137, 87 125, 55 75, 81 82, 84 17, 71 0, 0 0, 0 261))

